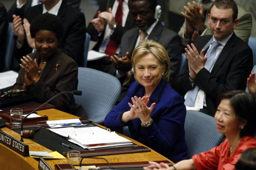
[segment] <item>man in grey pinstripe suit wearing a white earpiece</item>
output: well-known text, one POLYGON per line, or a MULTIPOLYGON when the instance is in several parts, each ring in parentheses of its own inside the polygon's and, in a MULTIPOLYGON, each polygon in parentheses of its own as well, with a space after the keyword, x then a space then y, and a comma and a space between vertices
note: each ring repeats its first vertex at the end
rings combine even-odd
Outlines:
POLYGON ((170 80, 178 74, 181 59, 181 38, 174 31, 164 27, 160 20, 160 6, 156 0, 129 0, 129 10, 137 27, 124 33, 118 56, 111 56, 112 72, 121 77, 124 84, 134 81, 132 78, 131 55, 140 40, 151 39, 161 43, 171 60, 170 80))

